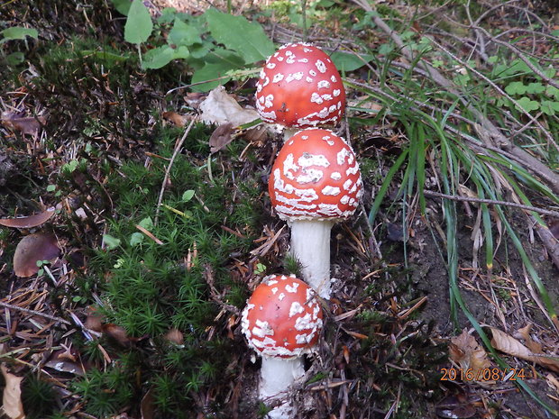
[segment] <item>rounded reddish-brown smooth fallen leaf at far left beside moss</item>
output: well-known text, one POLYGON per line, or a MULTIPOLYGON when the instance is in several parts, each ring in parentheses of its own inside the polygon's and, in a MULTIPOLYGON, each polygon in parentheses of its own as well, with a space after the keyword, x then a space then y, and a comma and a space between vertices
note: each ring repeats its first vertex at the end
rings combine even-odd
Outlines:
POLYGON ((31 277, 39 271, 37 260, 55 260, 60 255, 56 237, 37 232, 23 237, 14 251, 14 273, 18 277, 31 277))

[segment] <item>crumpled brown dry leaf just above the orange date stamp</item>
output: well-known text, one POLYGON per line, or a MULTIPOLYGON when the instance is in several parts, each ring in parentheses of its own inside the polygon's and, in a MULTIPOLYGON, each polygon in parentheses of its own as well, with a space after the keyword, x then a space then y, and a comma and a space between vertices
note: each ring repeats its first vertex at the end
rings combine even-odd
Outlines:
MULTIPOLYGON (((451 360, 454 360, 464 372, 472 370, 471 377, 478 377, 478 375, 483 377, 483 374, 478 374, 478 371, 491 367, 487 352, 466 329, 450 340, 449 352, 451 360)), ((488 381, 484 383, 487 384, 488 381)))

